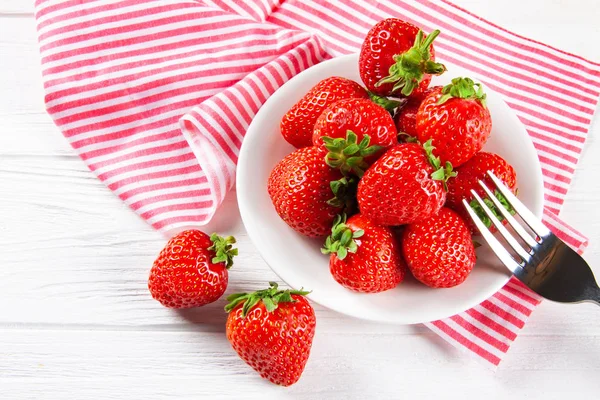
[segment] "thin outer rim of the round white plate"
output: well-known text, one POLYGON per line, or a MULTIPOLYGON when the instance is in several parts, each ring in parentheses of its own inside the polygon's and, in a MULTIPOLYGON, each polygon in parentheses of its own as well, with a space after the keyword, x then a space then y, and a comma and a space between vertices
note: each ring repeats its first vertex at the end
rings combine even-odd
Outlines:
MULTIPOLYGON (((261 257, 263 258, 263 260, 267 263, 267 265, 269 265, 269 268, 271 268, 271 270, 273 272, 275 272, 275 274, 277 274, 277 276, 279 276, 279 278, 281 280, 283 280, 287 285, 289 285, 290 287, 292 287, 294 289, 300 289, 300 287, 296 287, 296 285, 294 285, 294 284, 292 284, 292 282, 290 282, 289 277, 286 277, 285 269, 274 267, 274 265, 277 265, 277 261, 275 259, 273 259, 272 254, 271 254, 272 252, 269 251, 269 248, 267 247, 268 245, 265 243, 264 240, 257 239, 257 237, 259 236, 259 233, 257 232, 256 225, 249 223, 251 210, 249 209, 248 202, 244 201, 244 194, 246 193, 245 186, 249 184, 251 179, 249 179, 249 177, 247 176, 248 170, 246 168, 239 168, 239 167, 245 165, 247 162, 247 158, 250 157, 250 155, 248 154, 249 152, 247 151, 247 147, 249 146, 248 143, 250 143, 252 141, 254 136, 257 136, 260 134, 260 131, 258 129, 253 128, 253 126, 256 126, 258 124, 258 122, 261 121, 261 119, 264 119, 267 111, 270 108, 269 106, 272 103, 277 103, 279 98, 284 95, 284 90, 282 90, 283 88, 285 88, 287 85, 291 86, 291 85, 293 85, 293 82, 296 82, 298 80, 305 78, 306 77, 305 73, 306 74, 309 74, 309 73, 318 74, 318 72, 321 69, 324 69, 327 67, 328 63, 343 63, 343 62, 347 62, 351 59, 357 60, 358 53, 343 55, 343 56, 339 56, 339 57, 335 57, 335 58, 323 61, 319 64, 316 64, 316 65, 300 72, 299 74, 295 75, 290 80, 285 82, 282 86, 280 86, 271 96, 269 96, 269 98, 262 105, 262 107, 260 108, 258 113, 256 113, 256 115, 252 119, 252 122, 250 123, 250 126, 248 127, 248 129, 246 131, 246 136, 244 137, 244 140, 242 141, 242 146, 241 146, 240 153, 239 153, 238 168, 236 170, 236 197, 237 197, 237 201, 238 201, 238 207, 240 210, 240 216, 242 219, 242 223, 244 224, 244 227, 246 229, 246 232, 248 233, 248 236, 250 237, 250 240, 252 241, 254 246, 258 249, 258 252, 261 255, 261 257), (255 123, 255 121, 258 121, 258 122, 255 123)), ((448 70, 458 70, 458 71, 468 72, 469 76, 472 76, 472 77, 474 77, 474 79, 481 82, 481 80, 477 79, 476 74, 473 74, 473 73, 469 72, 468 70, 465 70, 464 68, 455 66, 452 63, 445 62, 445 64, 446 64, 448 70)), ((486 90, 486 92, 494 92, 489 87, 485 87, 485 90, 486 90)), ((494 93, 494 94, 496 96, 498 96, 498 98, 506 104, 504 99, 502 99, 502 97, 498 93, 494 93)), ((508 106, 508 104, 506 104, 506 107, 508 107, 508 109, 510 109, 510 111, 511 111, 511 113, 510 113, 511 118, 515 119, 518 122, 518 124, 523 127, 523 130, 525 131, 525 133, 527 133, 523 123, 518 119, 518 117, 516 116, 514 111, 510 108, 510 106, 508 106)), ((533 155, 535 155, 535 157, 534 157, 535 159, 532 160, 532 162, 535 164, 535 167, 536 167, 535 171, 534 171, 535 175, 537 175, 536 180, 537 180, 537 182, 540 183, 540 187, 538 188, 539 190, 537 190, 538 198, 536 199, 536 207, 534 209, 532 209, 531 211, 538 218, 541 218, 541 216, 543 214, 543 207, 544 207, 543 206, 543 204, 544 204, 543 175, 542 175, 542 170, 541 170, 541 164, 539 162, 537 153, 535 152, 535 148, 533 147, 533 143, 531 142, 531 137, 529 136, 529 134, 527 134, 527 138, 530 142, 530 150, 533 150, 533 155)), ((249 189, 251 189, 251 188, 249 188, 249 189)), ((396 325, 412 325, 412 324, 418 324, 418 323, 428 323, 428 322, 444 319, 444 318, 459 314, 461 312, 464 312, 465 310, 468 310, 468 309, 480 304, 484 300, 490 298, 491 296, 493 296, 495 293, 498 292, 498 290, 500 290, 502 287, 504 287, 504 285, 506 285, 506 283, 511 279, 511 277, 512 277, 511 274, 507 274, 505 276, 503 275, 502 279, 498 278, 497 284, 489 285, 489 287, 486 288, 486 290, 482 290, 481 292, 478 292, 477 295, 469 296, 469 301, 467 302, 469 304, 464 309, 462 309, 460 311, 454 310, 450 313, 448 313, 448 311, 440 312, 439 315, 437 315, 433 318, 427 318, 425 320, 419 319, 419 318, 399 318, 397 320, 384 320, 382 318, 378 318, 376 316, 376 314, 365 315, 364 313, 354 312, 354 310, 352 308, 342 309, 336 303, 334 303, 333 305, 328 304, 327 301, 323 301, 321 299, 321 296, 315 296, 314 293, 309 293, 306 297, 308 297, 311 301, 314 301, 315 303, 320 304, 321 306, 323 306, 325 308, 331 309, 333 311, 339 312, 340 314, 348 315, 348 316, 351 316, 354 318, 359 318, 359 319, 363 319, 363 320, 367 320, 367 321, 396 324, 396 325)), ((435 314, 435 312, 429 313, 429 314, 435 314)))

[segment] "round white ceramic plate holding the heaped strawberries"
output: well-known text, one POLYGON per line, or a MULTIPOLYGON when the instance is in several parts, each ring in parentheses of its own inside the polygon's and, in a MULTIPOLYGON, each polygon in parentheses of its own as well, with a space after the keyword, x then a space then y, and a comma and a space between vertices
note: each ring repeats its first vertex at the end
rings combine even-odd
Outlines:
MULTIPOLYGON (((457 76, 473 77, 452 65, 446 66, 448 71, 434 77, 432 85, 447 84, 457 76)), ((329 273, 329 257, 319 251, 322 241, 297 234, 279 218, 267 193, 267 180, 277 162, 294 150, 279 133, 279 121, 311 87, 330 76, 361 82, 358 55, 338 57, 295 76, 267 100, 246 133, 237 168, 237 197, 246 230, 265 261, 291 287, 312 290, 308 296, 311 300, 372 321, 396 324, 433 321, 462 312, 494 294, 510 275, 487 246, 478 249, 473 272, 455 288, 431 289, 407 274, 407 279, 393 290, 378 294, 352 292, 329 273)), ((493 129, 485 150, 500 154, 513 165, 519 198, 541 216, 543 183, 533 144, 500 96, 487 88, 486 92, 493 129)))

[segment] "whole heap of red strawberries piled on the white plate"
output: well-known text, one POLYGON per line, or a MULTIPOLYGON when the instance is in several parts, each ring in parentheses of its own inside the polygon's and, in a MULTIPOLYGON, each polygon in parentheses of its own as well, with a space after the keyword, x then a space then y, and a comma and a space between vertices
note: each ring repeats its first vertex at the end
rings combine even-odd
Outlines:
POLYGON ((298 233, 328 235, 322 252, 350 290, 393 289, 407 270, 433 288, 461 284, 475 265, 475 227, 462 200, 472 190, 485 197, 478 180, 488 170, 516 190, 514 169, 481 152, 492 130, 481 85, 464 77, 429 87, 446 71, 432 45, 439 33, 379 22, 359 58, 366 88, 324 79, 281 121, 297 150, 271 172, 273 205, 298 233))

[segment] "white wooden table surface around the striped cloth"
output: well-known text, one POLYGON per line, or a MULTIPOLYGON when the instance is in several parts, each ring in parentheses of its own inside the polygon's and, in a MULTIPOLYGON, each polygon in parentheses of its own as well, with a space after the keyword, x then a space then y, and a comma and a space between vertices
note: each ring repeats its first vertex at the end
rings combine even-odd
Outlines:
MULTIPOLYGON (((600 60, 596 0, 455 2, 600 60)), ((550 302, 535 311, 495 372, 423 326, 367 323, 316 306, 317 334, 302 379, 291 388, 263 381, 225 338, 223 299, 177 312, 150 298, 148 270, 164 238, 87 170, 45 113, 31 3, 0 0, 4 398, 597 397, 599 310, 550 302)), ((599 133, 596 123, 561 214, 591 237, 586 258, 597 274, 599 133)), ((276 280, 247 237, 233 195, 225 209, 208 230, 234 234, 244 255, 228 291, 276 280)))

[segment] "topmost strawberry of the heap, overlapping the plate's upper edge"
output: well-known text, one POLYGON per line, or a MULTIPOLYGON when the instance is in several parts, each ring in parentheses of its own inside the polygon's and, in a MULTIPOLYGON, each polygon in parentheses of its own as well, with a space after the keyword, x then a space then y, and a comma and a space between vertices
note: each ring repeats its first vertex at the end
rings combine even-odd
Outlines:
POLYGON ((429 86, 431 75, 440 75, 443 64, 435 62, 433 40, 416 26, 396 18, 378 22, 367 33, 358 61, 360 77, 371 92, 389 96, 418 94, 429 86))

